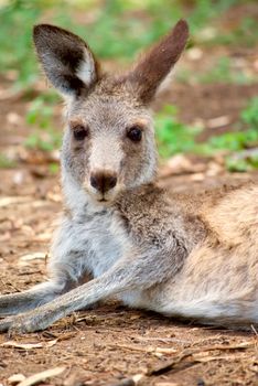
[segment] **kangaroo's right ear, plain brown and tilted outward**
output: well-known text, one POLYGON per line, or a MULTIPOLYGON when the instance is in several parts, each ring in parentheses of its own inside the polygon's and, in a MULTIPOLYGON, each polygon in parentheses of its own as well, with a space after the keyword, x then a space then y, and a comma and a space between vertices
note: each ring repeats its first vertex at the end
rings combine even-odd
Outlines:
POLYGON ((158 87, 178 62, 187 37, 189 25, 180 20, 129 73, 128 79, 143 103, 148 104, 154 97, 158 87))

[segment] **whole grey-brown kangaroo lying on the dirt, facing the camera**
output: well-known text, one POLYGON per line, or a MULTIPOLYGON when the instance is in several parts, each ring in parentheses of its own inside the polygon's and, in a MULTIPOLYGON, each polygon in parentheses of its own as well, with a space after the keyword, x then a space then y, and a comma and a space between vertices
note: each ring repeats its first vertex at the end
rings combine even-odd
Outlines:
POLYGON ((201 323, 258 323, 258 186, 194 196, 157 184, 150 104, 187 36, 181 20, 118 75, 103 73, 75 34, 34 28, 43 71, 66 101, 65 211, 49 281, 0 297, 0 331, 43 330, 108 298, 201 323))

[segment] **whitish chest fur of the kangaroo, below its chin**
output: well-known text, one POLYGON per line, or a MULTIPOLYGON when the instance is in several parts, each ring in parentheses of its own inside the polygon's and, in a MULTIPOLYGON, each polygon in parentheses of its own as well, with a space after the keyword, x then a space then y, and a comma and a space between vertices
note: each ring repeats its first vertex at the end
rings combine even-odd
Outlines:
POLYGON ((51 266, 62 265, 75 281, 85 274, 98 277, 131 248, 129 237, 114 210, 85 212, 65 217, 56 234, 51 266))

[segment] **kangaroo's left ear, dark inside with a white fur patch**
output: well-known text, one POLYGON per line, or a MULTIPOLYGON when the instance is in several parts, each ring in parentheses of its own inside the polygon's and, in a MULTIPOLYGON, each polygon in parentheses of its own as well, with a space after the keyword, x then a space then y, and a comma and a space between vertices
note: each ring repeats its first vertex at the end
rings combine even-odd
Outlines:
POLYGON ((79 36, 54 25, 40 24, 34 26, 33 40, 47 78, 64 96, 79 96, 97 82, 97 62, 79 36))

